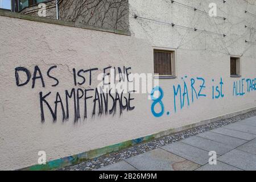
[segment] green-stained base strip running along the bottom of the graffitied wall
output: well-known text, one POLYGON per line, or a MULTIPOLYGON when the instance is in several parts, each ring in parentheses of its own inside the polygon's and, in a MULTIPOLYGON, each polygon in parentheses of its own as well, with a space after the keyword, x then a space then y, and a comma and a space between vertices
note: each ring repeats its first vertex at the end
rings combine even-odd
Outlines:
POLYGON ((76 165, 78 163, 85 162, 86 160, 89 160, 89 159, 94 159, 94 158, 97 158, 99 156, 110 154, 112 152, 117 152, 117 151, 123 150, 125 148, 129 148, 131 146, 134 146, 136 144, 140 144, 140 143, 143 143, 143 142, 148 142, 152 139, 157 139, 157 138, 164 137, 166 135, 172 135, 172 134, 180 133, 181 131, 192 129, 194 127, 207 125, 209 123, 217 122, 217 121, 220 121, 222 119, 228 119, 228 118, 236 117, 237 115, 249 113, 250 111, 254 111, 254 110, 256 110, 256 107, 241 110, 241 111, 236 111, 234 113, 221 115, 221 116, 216 117, 216 118, 210 118, 210 119, 207 119, 207 120, 204 120, 204 121, 201 121, 201 122, 193 123, 191 125, 181 126, 181 127, 176 128, 176 129, 169 129, 169 130, 166 130, 166 131, 160 131, 159 133, 155 133, 155 134, 152 134, 152 135, 147 135, 146 137, 127 140, 126 142, 121 142, 121 143, 113 144, 113 145, 110 145, 110 146, 106 146, 106 147, 97 148, 97 149, 94 149, 94 150, 82 152, 80 154, 67 156, 67 157, 64 157, 64 158, 56 159, 56 160, 51 160, 51 161, 47 162, 46 164, 42 164, 42 165, 36 164, 34 166, 25 167, 25 168, 22 168, 22 169, 19 169, 19 170, 23 170, 23 171, 27 171, 27 170, 28 171, 43 171, 44 170, 45 171, 45 170, 60 169, 60 168, 66 167, 66 166, 73 166, 73 165, 76 165))

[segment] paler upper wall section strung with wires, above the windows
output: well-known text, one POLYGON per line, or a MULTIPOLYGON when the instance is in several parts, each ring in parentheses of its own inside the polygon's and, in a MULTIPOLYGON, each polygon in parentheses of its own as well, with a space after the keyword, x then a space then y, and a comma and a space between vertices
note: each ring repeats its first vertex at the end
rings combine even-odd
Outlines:
POLYGON ((245 40, 256 40, 255 0, 228 0, 225 3, 220 0, 177 0, 174 3, 170 0, 129 0, 129 5, 132 35, 149 40, 152 46, 256 57, 255 46, 245 43, 245 40), (216 4, 217 17, 209 16, 210 3, 216 4), (147 19, 135 19, 134 14, 147 19), (160 22, 209 32, 172 27, 160 22), (245 28, 245 25, 248 27, 245 28), (223 34, 226 36, 221 36, 223 34))

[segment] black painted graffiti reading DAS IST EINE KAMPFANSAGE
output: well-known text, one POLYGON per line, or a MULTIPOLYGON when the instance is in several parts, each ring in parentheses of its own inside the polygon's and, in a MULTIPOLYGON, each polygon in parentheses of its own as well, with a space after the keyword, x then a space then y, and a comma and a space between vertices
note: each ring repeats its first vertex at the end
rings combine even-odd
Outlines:
MULTIPOLYGON (((55 76, 52 76, 51 71, 56 69, 57 66, 54 65, 50 67, 46 73, 48 78, 51 78, 55 81, 55 84, 51 85, 55 87, 59 85, 59 79, 55 76)), ((104 77, 102 77, 102 82, 104 85, 109 85, 109 82, 104 80, 105 76, 110 75, 110 69, 114 69, 114 74, 119 75, 117 79, 119 82, 121 81, 129 81, 130 67, 106 67, 104 68, 104 77)), ((93 73, 98 71, 98 68, 91 68, 91 69, 79 69, 76 71, 73 68, 73 81, 74 87, 78 85, 83 86, 91 86, 93 80, 93 73), (86 76, 85 76, 86 74, 86 76), (88 85, 85 85, 88 84, 88 85)), ((42 87, 46 87, 44 83, 44 75, 40 71, 40 68, 36 65, 33 71, 33 75, 29 69, 24 67, 17 67, 15 68, 15 80, 17 86, 24 86, 27 85, 30 80, 32 80, 32 88, 35 88, 36 82, 42 85, 42 87), (19 74, 26 75, 26 81, 20 82, 19 74)), ((49 101, 49 96, 52 92, 39 93, 39 100, 40 100, 40 111, 41 111, 41 120, 42 122, 45 121, 45 111, 46 108, 48 109, 49 113, 52 116, 53 122, 57 120, 57 111, 58 108, 61 109, 62 119, 67 120, 70 117, 70 112, 74 114, 75 122, 81 119, 81 115, 83 118, 88 118, 88 102, 92 102, 90 106, 92 106, 92 117, 97 115, 103 114, 113 114, 117 113, 119 110, 119 114, 121 115, 124 110, 131 111, 134 110, 135 106, 131 104, 131 101, 134 98, 131 97, 131 94, 135 91, 131 90, 129 93, 124 92, 115 92, 117 90, 112 89, 102 89, 102 87, 96 88, 89 88, 89 89, 81 89, 81 88, 71 88, 70 90, 64 90, 64 96, 61 96, 61 93, 55 93, 55 100, 53 104, 49 101), (73 110, 70 108, 70 105, 73 105, 73 110), (82 108, 81 108, 82 107, 82 108), (83 110, 82 110, 83 109, 83 110)))

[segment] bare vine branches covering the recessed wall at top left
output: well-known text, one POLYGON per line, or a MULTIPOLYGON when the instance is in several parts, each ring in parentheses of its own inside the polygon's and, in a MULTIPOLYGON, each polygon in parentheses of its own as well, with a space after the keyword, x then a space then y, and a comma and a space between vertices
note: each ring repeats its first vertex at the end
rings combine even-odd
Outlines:
MULTIPOLYGON (((55 19, 55 0, 46 2, 46 5, 47 18, 55 19)), ((36 10, 38 10, 37 6, 27 7, 22 13, 37 15, 36 10)), ((128 0, 60 0, 59 19, 88 26, 128 31, 129 4, 128 0)))

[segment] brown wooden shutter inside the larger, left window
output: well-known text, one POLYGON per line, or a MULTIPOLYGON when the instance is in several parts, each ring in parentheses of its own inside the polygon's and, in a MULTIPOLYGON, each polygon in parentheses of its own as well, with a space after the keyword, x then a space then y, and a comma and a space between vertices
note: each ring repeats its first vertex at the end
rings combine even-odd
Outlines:
POLYGON ((160 76, 172 75, 172 52, 154 50, 154 73, 160 76))

